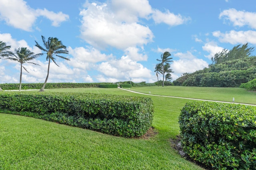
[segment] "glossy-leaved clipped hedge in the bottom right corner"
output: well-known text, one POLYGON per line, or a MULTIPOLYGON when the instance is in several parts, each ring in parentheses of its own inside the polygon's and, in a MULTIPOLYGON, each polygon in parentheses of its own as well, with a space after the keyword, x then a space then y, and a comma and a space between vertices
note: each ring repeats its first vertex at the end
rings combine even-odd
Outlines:
POLYGON ((256 107, 188 102, 179 117, 184 152, 214 169, 256 168, 256 107))

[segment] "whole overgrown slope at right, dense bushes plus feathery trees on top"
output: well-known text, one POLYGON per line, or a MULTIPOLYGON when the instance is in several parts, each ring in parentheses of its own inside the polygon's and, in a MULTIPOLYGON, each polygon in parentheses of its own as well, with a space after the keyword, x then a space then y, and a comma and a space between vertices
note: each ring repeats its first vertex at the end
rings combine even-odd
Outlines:
POLYGON ((193 73, 183 73, 173 81, 175 86, 239 87, 256 78, 256 57, 251 56, 254 47, 248 43, 224 49, 212 57, 208 68, 193 73))

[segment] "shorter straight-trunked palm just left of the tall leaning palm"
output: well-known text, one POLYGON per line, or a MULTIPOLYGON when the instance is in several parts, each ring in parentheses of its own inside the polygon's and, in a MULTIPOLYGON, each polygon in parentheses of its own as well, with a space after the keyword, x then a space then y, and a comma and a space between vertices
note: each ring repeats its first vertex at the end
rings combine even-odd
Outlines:
POLYGON ((27 49, 26 47, 21 47, 19 49, 15 49, 15 54, 12 55, 12 57, 7 57, 5 59, 7 60, 12 60, 12 61, 18 61, 20 63, 20 88, 19 91, 21 90, 21 79, 22 79, 22 68, 24 68, 24 70, 26 70, 26 72, 28 72, 28 70, 22 65, 24 63, 31 63, 31 64, 35 64, 35 65, 39 65, 36 63, 32 63, 32 62, 28 62, 28 61, 32 61, 37 57, 40 57, 41 54, 36 54, 34 55, 33 52, 31 52, 29 49, 27 49))

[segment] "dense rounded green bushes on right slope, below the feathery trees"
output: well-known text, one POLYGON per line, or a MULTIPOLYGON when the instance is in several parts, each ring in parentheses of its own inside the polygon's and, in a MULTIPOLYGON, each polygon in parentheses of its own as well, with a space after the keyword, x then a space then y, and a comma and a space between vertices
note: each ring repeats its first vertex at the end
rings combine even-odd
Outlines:
POLYGON ((256 78, 256 57, 246 57, 211 64, 209 68, 184 73, 173 81, 174 86, 239 87, 256 78))

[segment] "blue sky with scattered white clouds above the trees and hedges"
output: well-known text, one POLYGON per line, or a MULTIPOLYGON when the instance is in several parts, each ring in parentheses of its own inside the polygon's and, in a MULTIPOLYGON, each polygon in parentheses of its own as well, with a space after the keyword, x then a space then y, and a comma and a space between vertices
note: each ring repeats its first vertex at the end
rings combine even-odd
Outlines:
MULTIPOLYGON (((0 0, 0 40, 12 51, 57 37, 70 61, 51 63, 48 82, 156 82, 156 59, 173 58, 173 80, 212 63, 222 49, 256 45, 255 0, 0 0)), ((255 52, 254 54, 255 55, 255 52)), ((44 82, 46 55, 24 64, 22 82, 44 82)), ((20 65, 0 60, 0 83, 20 65)))

